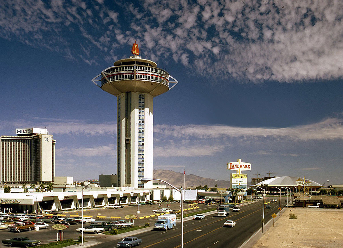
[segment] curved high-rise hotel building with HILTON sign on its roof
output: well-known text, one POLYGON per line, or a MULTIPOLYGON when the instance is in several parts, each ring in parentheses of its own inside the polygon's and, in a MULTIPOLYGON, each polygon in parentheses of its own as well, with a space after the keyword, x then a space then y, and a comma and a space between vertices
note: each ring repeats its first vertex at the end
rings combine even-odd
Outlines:
POLYGON ((44 128, 17 128, 0 138, 0 180, 7 184, 52 182, 55 143, 44 128))

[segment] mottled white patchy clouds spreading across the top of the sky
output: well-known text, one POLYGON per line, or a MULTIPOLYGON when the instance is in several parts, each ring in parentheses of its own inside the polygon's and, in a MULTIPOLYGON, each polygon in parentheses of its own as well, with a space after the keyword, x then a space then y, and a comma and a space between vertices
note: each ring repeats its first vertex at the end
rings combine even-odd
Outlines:
POLYGON ((3 0, 0 37, 88 64, 113 62, 118 48, 136 37, 147 58, 172 58, 194 73, 254 83, 343 75, 342 1, 104 4, 3 0))

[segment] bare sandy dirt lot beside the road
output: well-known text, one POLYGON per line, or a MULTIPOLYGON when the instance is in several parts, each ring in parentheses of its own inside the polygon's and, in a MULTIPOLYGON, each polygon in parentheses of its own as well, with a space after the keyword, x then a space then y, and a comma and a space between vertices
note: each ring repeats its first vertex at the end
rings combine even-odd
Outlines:
POLYGON ((343 209, 286 209, 252 247, 343 247, 343 209))

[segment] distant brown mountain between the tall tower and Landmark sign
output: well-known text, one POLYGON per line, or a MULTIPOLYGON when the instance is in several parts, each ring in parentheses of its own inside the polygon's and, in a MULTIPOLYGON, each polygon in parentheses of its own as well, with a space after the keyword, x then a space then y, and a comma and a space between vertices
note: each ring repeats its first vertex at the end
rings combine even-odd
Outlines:
MULTIPOLYGON (((184 186, 184 174, 179 173, 179 172, 174 172, 173 170, 153 170, 153 177, 165 180, 169 182, 171 185, 174 185, 175 187, 184 186)), ((162 184, 162 182, 159 182, 159 184, 162 184)), ((190 175, 186 174, 186 188, 189 188, 192 185, 194 187, 198 185, 201 185, 201 186, 207 185, 209 188, 212 188, 216 184, 218 185, 217 186, 218 188, 230 187, 230 181, 226 181, 226 180, 215 181, 215 179, 211 179, 211 178, 199 177, 193 174, 190 174, 190 175)))

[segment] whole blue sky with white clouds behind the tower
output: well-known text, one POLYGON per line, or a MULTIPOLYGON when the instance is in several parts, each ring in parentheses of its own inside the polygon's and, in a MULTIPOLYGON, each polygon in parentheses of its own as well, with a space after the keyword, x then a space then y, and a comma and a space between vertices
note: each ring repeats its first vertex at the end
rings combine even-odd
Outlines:
POLYGON ((179 84, 154 98, 154 169, 342 184, 340 1, 7 1, 0 134, 47 128, 56 174, 116 173, 116 97, 91 79, 130 56, 179 84))

